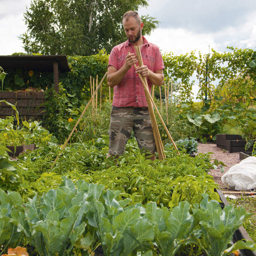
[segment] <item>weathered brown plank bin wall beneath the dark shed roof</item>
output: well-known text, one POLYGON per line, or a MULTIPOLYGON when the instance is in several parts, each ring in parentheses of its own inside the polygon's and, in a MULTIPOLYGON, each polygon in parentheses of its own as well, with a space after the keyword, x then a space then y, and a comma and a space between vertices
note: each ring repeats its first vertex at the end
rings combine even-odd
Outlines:
MULTIPOLYGON (((0 92, 0 100, 16 105, 19 116, 25 116, 30 119, 36 116, 36 119, 42 119, 45 115, 45 97, 43 92, 0 92)), ((5 118, 15 114, 12 107, 4 102, 0 105, 0 118, 5 118)))

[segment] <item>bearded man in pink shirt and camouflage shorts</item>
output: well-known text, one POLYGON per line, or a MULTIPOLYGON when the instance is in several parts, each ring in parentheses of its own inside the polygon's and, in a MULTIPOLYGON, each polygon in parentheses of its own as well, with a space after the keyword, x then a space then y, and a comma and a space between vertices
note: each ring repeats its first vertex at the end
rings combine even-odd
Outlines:
MULTIPOLYGON (((164 62, 159 47, 142 36, 143 23, 137 12, 123 16, 123 28, 128 40, 115 46, 109 55, 107 82, 114 87, 113 106, 109 126, 109 154, 122 155, 131 131, 134 131, 139 148, 150 152, 156 159, 156 145, 147 100, 138 73, 147 77, 149 90, 152 84, 162 85, 164 62), (135 70, 135 46, 140 46, 144 66, 135 70)), ((138 64, 137 64, 138 66, 138 64)))

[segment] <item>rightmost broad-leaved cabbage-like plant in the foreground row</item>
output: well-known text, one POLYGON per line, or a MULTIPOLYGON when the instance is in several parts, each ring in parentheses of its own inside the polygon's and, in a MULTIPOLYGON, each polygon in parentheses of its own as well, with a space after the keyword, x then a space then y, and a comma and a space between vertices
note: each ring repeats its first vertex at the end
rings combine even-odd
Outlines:
POLYGON ((228 255, 230 251, 237 249, 252 249, 254 245, 252 242, 236 242, 229 249, 228 244, 232 239, 232 235, 245 218, 250 216, 244 209, 234 209, 232 206, 225 206, 221 210, 220 204, 217 201, 208 202, 207 196, 200 203, 194 205, 192 209, 194 218, 199 222, 202 231, 202 237, 199 244, 205 249, 206 254, 211 255, 228 255), (220 238, 219 240, 216 238, 220 238))

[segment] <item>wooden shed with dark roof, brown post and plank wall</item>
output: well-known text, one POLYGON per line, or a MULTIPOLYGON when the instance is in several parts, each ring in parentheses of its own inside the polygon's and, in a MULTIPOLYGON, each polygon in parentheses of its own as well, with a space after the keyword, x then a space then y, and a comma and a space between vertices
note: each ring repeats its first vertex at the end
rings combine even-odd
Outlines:
MULTIPOLYGON (((0 56, 0 66, 6 73, 11 70, 37 70, 42 72, 53 72, 55 91, 59 92, 59 73, 69 72, 66 55, 24 55, 24 56, 0 56)), ((6 100, 16 105, 20 116, 30 119, 32 116, 41 119, 45 115, 44 93, 36 91, 28 92, 2 92, 0 100, 6 100)), ((0 105, 0 118, 13 114, 13 109, 6 104, 0 105)))

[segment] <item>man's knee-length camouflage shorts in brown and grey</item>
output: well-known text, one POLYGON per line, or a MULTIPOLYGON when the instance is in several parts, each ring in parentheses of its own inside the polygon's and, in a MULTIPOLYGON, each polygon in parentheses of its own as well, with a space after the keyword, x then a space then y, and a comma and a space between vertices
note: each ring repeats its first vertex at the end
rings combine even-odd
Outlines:
POLYGON ((109 154, 122 155, 125 152, 132 130, 141 150, 156 152, 148 109, 113 106, 109 126, 109 154))

